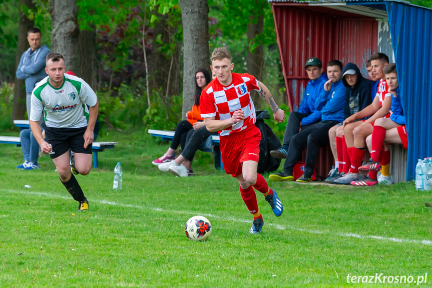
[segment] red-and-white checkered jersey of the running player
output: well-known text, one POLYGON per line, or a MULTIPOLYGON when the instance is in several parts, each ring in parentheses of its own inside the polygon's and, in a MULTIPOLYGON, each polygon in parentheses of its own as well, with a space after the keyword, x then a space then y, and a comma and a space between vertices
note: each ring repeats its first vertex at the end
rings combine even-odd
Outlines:
POLYGON ((215 117, 225 120, 232 117, 234 111, 243 110, 244 119, 226 129, 219 131, 220 136, 232 135, 246 130, 255 124, 255 107, 250 97, 252 90, 261 91, 258 80, 250 74, 232 73, 232 83, 223 86, 217 79, 204 88, 201 93, 201 117, 215 117))

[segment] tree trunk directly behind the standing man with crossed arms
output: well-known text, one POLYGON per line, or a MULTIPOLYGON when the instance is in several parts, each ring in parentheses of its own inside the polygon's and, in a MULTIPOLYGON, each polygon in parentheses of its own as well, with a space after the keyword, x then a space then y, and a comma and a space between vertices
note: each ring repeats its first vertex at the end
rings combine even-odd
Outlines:
MULTIPOLYGON (((32 0, 20 0, 20 8, 27 7, 34 10, 35 4, 32 0)), ((21 55, 29 49, 29 42, 27 41, 27 30, 35 26, 35 21, 26 17, 23 11, 20 11, 20 23, 18 25, 18 43, 16 54, 16 67, 20 64, 21 55)), ((15 79, 14 88, 14 104, 12 107, 12 119, 25 119, 26 115, 26 85, 24 80, 15 79)), ((30 116, 30 115, 29 115, 30 116)))

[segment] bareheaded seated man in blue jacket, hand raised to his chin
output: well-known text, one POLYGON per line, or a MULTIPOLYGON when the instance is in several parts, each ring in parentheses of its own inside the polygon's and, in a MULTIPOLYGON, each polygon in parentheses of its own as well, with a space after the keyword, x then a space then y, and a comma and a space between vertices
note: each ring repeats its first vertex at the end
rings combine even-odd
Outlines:
MULTIPOLYGON (((344 119, 345 86, 342 83, 342 63, 332 60, 327 64, 328 80, 323 85, 323 90, 315 100, 315 111, 319 122, 301 129, 295 134, 288 147, 288 156, 283 165, 283 171, 271 174, 273 181, 293 181, 293 169, 301 157, 303 149, 306 152, 306 164, 303 175, 297 182, 311 182, 313 167, 318 156, 319 148, 329 143, 328 129, 344 119)), ((312 115, 311 114, 311 115, 312 115)), ((304 118, 303 118, 304 119, 304 118)), ((303 121, 302 121, 303 122, 303 121)))

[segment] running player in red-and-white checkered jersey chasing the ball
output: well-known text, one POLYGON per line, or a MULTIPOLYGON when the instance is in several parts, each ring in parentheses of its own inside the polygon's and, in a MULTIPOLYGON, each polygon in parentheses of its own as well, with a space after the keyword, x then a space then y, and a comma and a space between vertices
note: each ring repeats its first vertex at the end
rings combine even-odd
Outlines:
POLYGON ((255 107, 250 92, 256 90, 270 105, 273 117, 283 123, 285 113, 279 109, 268 88, 249 74, 232 73, 234 63, 226 48, 216 48, 212 53, 212 71, 216 74, 201 94, 201 116, 210 132, 218 131, 220 150, 225 172, 240 184, 240 194, 254 220, 250 233, 260 233, 264 221, 258 210, 256 194, 260 191, 274 214, 283 212, 276 191, 269 188, 264 177, 257 173, 261 132, 254 125, 255 107))

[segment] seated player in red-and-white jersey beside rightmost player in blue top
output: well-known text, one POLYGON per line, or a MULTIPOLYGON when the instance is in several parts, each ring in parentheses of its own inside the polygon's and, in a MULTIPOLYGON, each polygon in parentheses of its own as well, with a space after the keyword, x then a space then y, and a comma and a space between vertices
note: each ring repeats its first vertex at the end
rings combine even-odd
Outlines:
POLYGON ((389 60, 387 55, 383 53, 375 53, 369 60, 372 65, 372 74, 379 78, 380 81, 372 104, 343 121, 343 135, 351 160, 351 168, 347 174, 336 179, 335 183, 353 185, 355 185, 354 182, 356 181, 362 181, 363 183, 367 183, 367 185, 378 183, 376 181, 376 171, 370 171, 366 177, 358 173, 358 167, 360 167, 364 157, 366 137, 372 134, 374 121, 378 118, 389 117, 391 94, 388 93, 388 85, 382 73, 382 70, 388 65, 389 60), (365 117, 369 118, 364 121, 356 121, 365 117))

